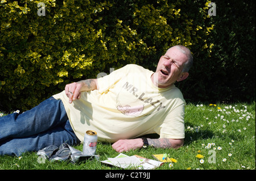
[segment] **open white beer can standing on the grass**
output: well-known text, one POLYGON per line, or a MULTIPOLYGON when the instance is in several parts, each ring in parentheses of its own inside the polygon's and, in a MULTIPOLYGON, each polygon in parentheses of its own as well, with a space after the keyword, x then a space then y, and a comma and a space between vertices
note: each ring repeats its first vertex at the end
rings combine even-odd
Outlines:
POLYGON ((82 154, 95 155, 97 147, 97 132, 86 131, 84 134, 84 145, 82 146, 82 154))

